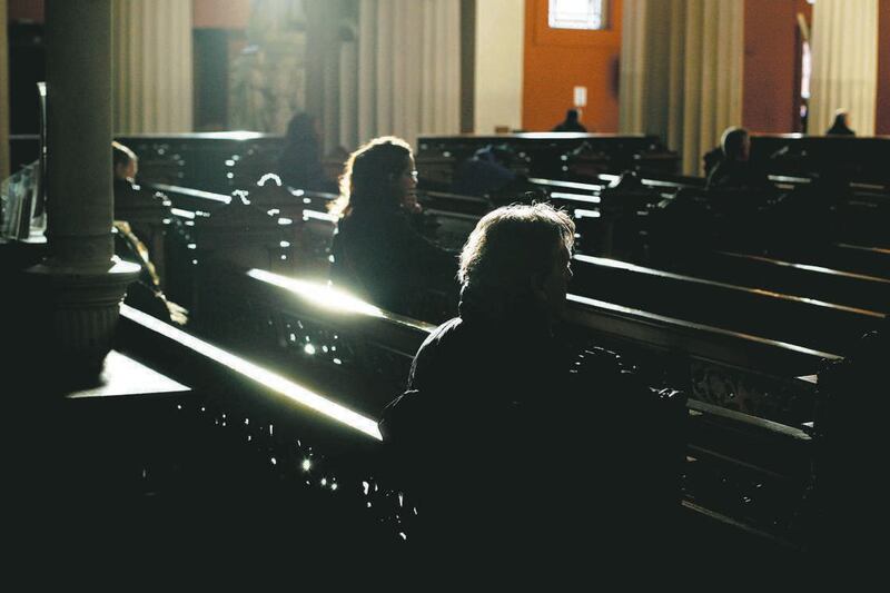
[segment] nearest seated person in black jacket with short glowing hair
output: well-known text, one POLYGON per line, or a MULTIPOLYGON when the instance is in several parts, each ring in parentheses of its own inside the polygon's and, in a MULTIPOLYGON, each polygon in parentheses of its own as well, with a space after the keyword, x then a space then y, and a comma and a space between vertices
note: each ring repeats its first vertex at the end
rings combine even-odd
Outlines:
POLYGON ((612 353, 573 356, 557 337, 574 231, 546 204, 483 217, 461 255, 459 316, 424 342, 384 411, 384 444, 424 522, 408 542, 424 552, 497 548, 511 571, 601 560, 596 543, 644 554, 663 526, 653 513, 679 505, 683 447, 654 436, 666 434, 661 401, 612 353))

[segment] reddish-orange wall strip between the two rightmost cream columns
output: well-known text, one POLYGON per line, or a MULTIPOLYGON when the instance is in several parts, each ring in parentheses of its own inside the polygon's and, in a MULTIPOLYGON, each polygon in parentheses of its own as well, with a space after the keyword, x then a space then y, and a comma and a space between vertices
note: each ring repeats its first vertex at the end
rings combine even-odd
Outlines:
POLYGON ((812 22, 805 0, 745 0, 742 126, 752 131, 799 131, 798 12, 812 22))

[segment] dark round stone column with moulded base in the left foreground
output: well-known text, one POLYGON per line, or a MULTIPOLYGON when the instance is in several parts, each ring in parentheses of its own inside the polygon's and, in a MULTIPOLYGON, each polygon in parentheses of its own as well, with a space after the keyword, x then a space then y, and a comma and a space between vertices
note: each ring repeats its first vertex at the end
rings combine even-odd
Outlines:
POLYGON ((27 274, 48 374, 95 378, 139 266, 113 255, 110 0, 47 0, 48 257, 27 274))

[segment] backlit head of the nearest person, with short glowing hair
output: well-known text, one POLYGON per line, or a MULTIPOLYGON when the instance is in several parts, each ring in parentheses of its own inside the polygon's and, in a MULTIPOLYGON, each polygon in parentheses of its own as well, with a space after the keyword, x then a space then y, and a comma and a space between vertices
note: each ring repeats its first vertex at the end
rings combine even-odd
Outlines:
POLYGON ((461 253, 462 290, 487 307, 530 303, 556 319, 565 306, 575 225, 547 204, 485 215, 461 253))

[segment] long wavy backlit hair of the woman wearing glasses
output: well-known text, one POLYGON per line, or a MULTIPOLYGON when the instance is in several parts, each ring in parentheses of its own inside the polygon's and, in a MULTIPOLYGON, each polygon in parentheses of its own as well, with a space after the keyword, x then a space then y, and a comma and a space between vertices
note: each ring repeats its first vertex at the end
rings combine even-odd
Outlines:
POLYGON ((393 180, 412 157, 411 146, 395 136, 375 138, 349 155, 340 175, 340 197, 332 211, 348 215, 355 208, 380 211, 400 206, 392 191, 393 180))

